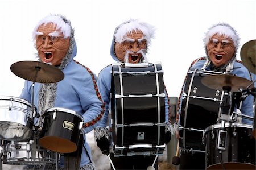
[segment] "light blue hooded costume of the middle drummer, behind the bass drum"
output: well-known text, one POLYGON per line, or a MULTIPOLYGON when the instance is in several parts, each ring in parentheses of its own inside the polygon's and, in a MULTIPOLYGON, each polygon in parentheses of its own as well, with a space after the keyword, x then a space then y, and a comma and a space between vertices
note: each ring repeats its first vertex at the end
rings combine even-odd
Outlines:
MULTIPOLYGON (((137 20, 129 20, 127 22, 122 23, 121 25, 119 25, 117 28, 115 28, 114 31, 114 36, 113 36, 113 40, 112 40, 112 44, 110 47, 110 55, 112 56, 112 58, 117 61, 118 63, 123 63, 123 61, 120 61, 117 56, 115 55, 115 50, 114 50, 114 46, 115 46, 115 34, 117 33, 117 30, 119 29, 119 27, 130 23, 130 22, 137 22, 137 20)), ((141 30, 139 27, 135 28, 135 30, 141 30)), ((127 31, 129 32, 129 31, 127 31)), ((126 33, 127 33, 126 32, 126 33)), ((144 32, 143 32, 144 33, 144 32)), ((144 35, 145 36, 145 35, 144 35)), ((150 45, 150 39, 148 39, 148 37, 152 38, 152 35, 148 35, 147 36, 147 47, 148 45, 150 45)), ((140 63, 145 62, 145 57, 141 60, 140 63)), ((110 139, 110 142, 112 141, 112 134, 110 132, 111 128, 107 128, 107 126, 111 127, 111 123, 109 121, 109 113, 111 113, 111 101, 110 101, 110 93, 111 93, 111 72, 112 72, 112 65, 108 65, 107 67, 105 67, 104 69, 101 70, 100 74, 98 75, 98 80, 97 80, 97 84, 98 84, 98 88, 100 90, 102 99, 105 102, 105 114, 104 117, 102 118, 102 121, 100 122, 100 124, 97 126, 97 128, 94 131, 94 138, 100 139, 101 137, 106 137, 108 139, 110 139), (109 122, 108 122, 109 121, 109 122)), ((170 113, 170 106, 169 106, 169 99, 168 99, 168 94, 165 90, 165 120, 166 120, 166 132, 169 131, 171 132, 171 134, 173 134, 173 130, 172 130, 172 125, 171 125, 171 113, 170 113)), ((111 142, 112 143, 112 142, 111 142)), ((113 152, 113 146, 110 146, 110 152, 113 152)))

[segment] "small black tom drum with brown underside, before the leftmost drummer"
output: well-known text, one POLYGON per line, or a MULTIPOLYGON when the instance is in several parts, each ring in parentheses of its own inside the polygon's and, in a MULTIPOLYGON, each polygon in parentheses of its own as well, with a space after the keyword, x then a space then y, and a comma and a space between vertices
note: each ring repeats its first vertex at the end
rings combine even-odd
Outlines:
POLYGON ((40 145, 59 153, 77 150, 84 118, 73 110, 53 107, 44 112, 40 145))

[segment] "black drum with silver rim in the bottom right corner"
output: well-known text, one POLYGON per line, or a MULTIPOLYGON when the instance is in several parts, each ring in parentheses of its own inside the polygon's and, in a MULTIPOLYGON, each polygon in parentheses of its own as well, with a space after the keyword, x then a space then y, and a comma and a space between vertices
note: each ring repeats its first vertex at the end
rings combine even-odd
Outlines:
POLYGON ((256 169, 253 126, 221 123, 205 129, 207 169, 256 169))

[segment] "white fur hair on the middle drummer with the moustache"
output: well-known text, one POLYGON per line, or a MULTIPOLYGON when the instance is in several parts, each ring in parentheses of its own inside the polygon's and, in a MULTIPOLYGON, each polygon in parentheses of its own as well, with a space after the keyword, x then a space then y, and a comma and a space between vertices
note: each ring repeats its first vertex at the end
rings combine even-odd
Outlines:
POLYGON ((155 28, 139 19, 130 19, 122 23, 114 34, 115 42, 122 43, 127 39, 127 34, 131 34, 133 31, 137 30, 143 33, 143 38, 146 39, 147 45, 150 45, 151 39, 155 36, 155 28))

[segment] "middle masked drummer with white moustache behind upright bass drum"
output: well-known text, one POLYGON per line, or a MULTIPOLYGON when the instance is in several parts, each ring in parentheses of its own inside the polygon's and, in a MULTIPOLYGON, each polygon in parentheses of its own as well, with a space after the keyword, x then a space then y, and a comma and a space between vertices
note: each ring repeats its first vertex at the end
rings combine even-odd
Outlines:
MULTIPOLYGON (((110 55, 118 63, 146 63, 146 53, 150 46, 151 39, 154 37, 155 29, 150 24, 142 22, 138 19, 130 19, 115 28, 112 45, 110 48, 110 55)), ((98 76, 98 87, 102 94, 102 98, 106 103, 105 114, 100 125, 96 128, 94 137, 97 146, 101 149, 103 154, 110 154, 114 167, 116 169, 147 169, 148 166, 154 163, 155 155, 152 156, 121 156, 114 157, 112 136, 110 133, 108 115, 111 113, 110 104, 110 89, 111 89, 111 69, 108 65, 100 72, 98 76)), ((136 88, 136 85, 135 85, 136 88)), ((165 99, 166 107, 166 144, 171 140, 171 124, 168 94, 166 92, 165 99)), ((155 163, 155 169, 158 168, 158 161, 155 163)))

